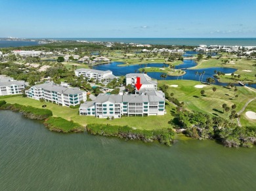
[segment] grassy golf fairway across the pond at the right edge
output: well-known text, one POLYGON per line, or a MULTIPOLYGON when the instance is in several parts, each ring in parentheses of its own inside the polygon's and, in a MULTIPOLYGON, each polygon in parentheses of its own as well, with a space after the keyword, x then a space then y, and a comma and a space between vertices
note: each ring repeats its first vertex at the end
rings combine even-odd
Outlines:
POLYGON ((219 76, 220 82, 237 82, 237 81, 244 81, 244 82, 255 82, 256 83, 256 67, 253 66, 256 64, 256 60, 247 60, 246 58, 242 58, 237 60, 236 58, 220 58, 219 60, 215 58, 211 58, 209 60, 202 60, 198 62, 198 65, 192 67, 196 72, 196 69, 203 69, 208 67, 230 67, 237 69, 234 73, 235 75, 240 75, 238 77, 232 77, 231 75, 224 75, 219 76), (224 60, 228 60, 229 62, 224 63, 224 60))

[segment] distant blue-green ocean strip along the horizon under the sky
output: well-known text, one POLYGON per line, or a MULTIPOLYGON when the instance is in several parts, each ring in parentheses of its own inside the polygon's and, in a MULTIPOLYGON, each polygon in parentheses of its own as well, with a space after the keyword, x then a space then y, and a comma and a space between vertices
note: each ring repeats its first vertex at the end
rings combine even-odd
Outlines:
MULTIPOLYGON (((51 38, 50 38, 51 39, 51 38)), ((70 41, 100 41, 100 42, 119 42, 119 43, 141 43, 141 44, 164 44, 164 45, 240 45, 256 46, 256 38, 64 38, 57 40, 70 41)))

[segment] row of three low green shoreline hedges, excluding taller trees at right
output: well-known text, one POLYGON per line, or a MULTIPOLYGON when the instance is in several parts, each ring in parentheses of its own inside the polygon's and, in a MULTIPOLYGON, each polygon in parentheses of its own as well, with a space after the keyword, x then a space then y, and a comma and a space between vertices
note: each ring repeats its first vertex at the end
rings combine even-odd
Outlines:
POLYGON ((43 124, 50 131, 59 133, 79 133, 87 131, 91 135, 119 137, 127 140, 138 140, 144 143, 159 141, 161 144, 171 146, 175 139, 175 131, 171 128, 160 130, 139 130, 129 126, 111 126, 110 124, 87 124, 86 128, 72 120, 54 117, 49 109, 38 109, 31 106, 7 103, 0 100, 0 109, 22 113, 26 118, 44 120, 43 124))

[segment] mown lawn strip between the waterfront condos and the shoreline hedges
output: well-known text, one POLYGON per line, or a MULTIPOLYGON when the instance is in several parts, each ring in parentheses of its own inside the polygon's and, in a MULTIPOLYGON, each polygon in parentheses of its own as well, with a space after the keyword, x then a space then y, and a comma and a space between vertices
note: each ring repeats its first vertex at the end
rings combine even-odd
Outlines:
POLYGON ((167 114, 164 116, 123 116, 122 118, 116 118, 114 120, 106 120, 102 118, 95 118, 95 116, 79 116, 79 109, 62 107, 60 105, 49 102, 41 103, 40 101, 28 97, 9 97, 4 98, 4 100, 7 101, 7 103, 18 103, 20 105, 30 105, 37 108, 42 108, 42 105, 47 105, 46 109, 53 111, 53 116, 62 117, 66 120, 73 120, 82 126, 85 126, 86 124, 98 123, 118 126, 127 125, 142 130, 153 130, 160 128, 170 128, 171 126, 168 124, 168 121, 173 118, 170 113, 172 105, 167 105, 165 107, 167 114))

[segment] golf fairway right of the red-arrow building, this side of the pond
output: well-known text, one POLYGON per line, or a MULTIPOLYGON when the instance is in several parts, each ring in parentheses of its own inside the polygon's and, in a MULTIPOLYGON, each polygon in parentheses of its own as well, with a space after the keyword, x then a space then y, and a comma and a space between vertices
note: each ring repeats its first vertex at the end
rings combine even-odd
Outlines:
MULTIPOLYGON (((169 94, 173 93, 173 97, 184 102, 184 109, 188 109, 189 111, 201 111, 202 113, 208 113, 212 116, 221 116, 223 118, 228 118, 232 105, 236 104, 235 110, 238 112, 244 107, 245 103, 249 101, 249 99, 256 97, 255 92, 242 86, 237 87, 238 91, 235 93, 234 88, 225 88, 223 86, 207 85, 203 88, 196 88, 194 86, 202 84, 192 80, 158 81, 158 87, 163 86, 163 84, 169 86, 167 90, 169 94), (171 85, 178 85, 178 87, 175 88, 171 85), (213 87, 217 88, 216 92, 213 92, 213 87), (205 90, 204 96, 201 96, 201 90, 205 90), (234 94, 238 95, 238 97, 234 98, 234 94), (226 105, 230 107, 230 111, 228 113, 223 113, 223 103, 226 103, 226 105)), ((242 120, 242 126, 245 125, 247 126, 249 124, 247 124, 245 120, 242 120)))

